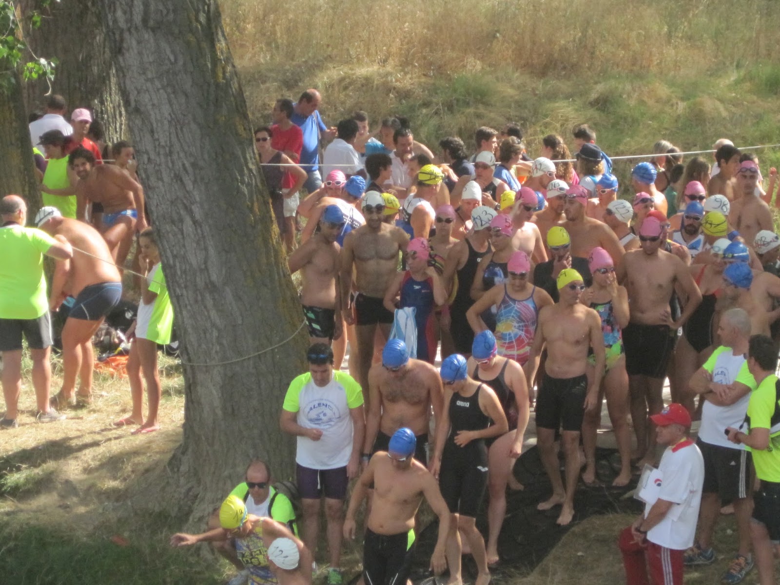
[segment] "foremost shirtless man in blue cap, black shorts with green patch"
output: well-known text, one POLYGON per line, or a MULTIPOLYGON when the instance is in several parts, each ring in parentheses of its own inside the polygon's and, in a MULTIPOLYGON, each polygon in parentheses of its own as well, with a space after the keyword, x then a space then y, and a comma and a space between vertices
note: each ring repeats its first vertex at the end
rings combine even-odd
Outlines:
POLYGON ((411 429, 395 431, 388 450, 376 452, 371 457, 349 500, 344 537, 354 540, 355 515, 374 486, 363 537, 363 582, 367 585, 408 582, 414 555, 414 516, 423 496, 439 521, 431 567, 439 574, 447 566, 445 543, 449 533, 449 509, 434 476, 413 458, 416 442, 411 429))

